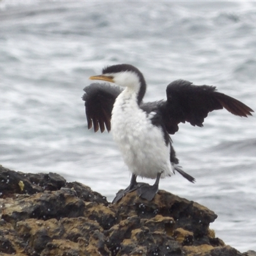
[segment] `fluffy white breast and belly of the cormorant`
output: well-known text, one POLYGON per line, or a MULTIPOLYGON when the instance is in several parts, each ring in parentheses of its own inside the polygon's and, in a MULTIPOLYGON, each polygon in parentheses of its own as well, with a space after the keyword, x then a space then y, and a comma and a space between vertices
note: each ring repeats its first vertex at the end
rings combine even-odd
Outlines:
POLYGON ((156 179, 172 175, 170 145, 166 146, 161 128, 137 104, 136 94, 124 90, 116 99, 111 118, 111 131, 129 170, 141 177, 156 179))

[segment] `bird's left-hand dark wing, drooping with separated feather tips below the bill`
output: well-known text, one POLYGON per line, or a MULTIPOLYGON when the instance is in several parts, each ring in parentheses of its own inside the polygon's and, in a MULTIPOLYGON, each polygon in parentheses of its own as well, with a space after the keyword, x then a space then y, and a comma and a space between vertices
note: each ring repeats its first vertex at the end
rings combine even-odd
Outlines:
POLYGON ((84 92, 82 99, 85 101, 88 129, 91 129, 93 125, 95 132, 99 128, 101 132, 104 132, 106 126, 109 132, 113 105, 122 90, 109 83, 92 83, 84 88, 84 92))

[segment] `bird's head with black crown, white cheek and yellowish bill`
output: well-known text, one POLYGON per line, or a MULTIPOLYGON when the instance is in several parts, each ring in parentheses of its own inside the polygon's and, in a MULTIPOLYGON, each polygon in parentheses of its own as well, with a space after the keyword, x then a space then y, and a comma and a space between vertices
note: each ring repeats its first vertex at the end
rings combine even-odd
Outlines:
POLYGON ((108 81, 127 87, 138 93, 138 103, 143 99, 146 92, 146 82, 138 68, 129 64, 118 64, 103 68, 99 76, 91 76, 92 80, 108 81))

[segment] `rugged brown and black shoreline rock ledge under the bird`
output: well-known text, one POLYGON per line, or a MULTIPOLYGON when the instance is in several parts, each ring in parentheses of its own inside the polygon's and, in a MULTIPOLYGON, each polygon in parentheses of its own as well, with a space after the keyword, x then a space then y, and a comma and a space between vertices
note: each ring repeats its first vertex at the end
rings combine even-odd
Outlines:
POLYGON ((159 191, 136 192, 117 204, 56 173, 0 166, 0 255, 253 256, 209 228, 217 215, 196 202, 159 191))

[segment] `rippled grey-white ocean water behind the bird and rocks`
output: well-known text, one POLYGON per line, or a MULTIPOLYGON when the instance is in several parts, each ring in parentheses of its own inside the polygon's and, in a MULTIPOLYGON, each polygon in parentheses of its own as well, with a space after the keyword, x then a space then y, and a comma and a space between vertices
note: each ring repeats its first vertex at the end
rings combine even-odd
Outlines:
MULTIPOLYGON (((112 200, 131 175, 111 132, 87 129, 84 86, 102 67, 143 72, 145 101, 175 79, 217 86, 256 110, 256 3, 249 1, 1 1, 0 164, 57 172, 112 200)), ((160 189, 218 214, 211 228, 256 250, 256 118, 214 111, 172 136, 179 174, 160 189)), ((143 180, 152 183, 153 180, 143 180)))

